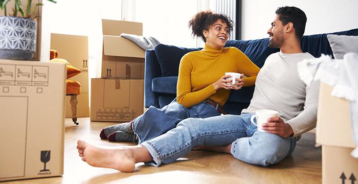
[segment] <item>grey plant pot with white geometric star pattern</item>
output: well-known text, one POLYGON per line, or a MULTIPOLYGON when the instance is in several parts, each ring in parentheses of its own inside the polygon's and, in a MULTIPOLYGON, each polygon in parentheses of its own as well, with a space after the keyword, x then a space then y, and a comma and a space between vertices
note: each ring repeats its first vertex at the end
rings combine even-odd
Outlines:
POLYGON ((37 22, 0 16, 0 59, 31 60, 36 48, 37 22))

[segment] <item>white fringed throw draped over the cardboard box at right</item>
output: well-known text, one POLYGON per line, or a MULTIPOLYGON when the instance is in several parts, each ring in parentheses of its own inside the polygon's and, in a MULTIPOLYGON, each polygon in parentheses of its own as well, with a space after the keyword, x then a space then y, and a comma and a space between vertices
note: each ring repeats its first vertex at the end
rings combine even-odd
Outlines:
MULTIPOLYGON (((343 60, 320 58, 303 60, 297 64, 299 76, 307 85, 312 80, 320 80, 333 86, 331 95, 350 101, 350 115, 353 140, 358 145, 358 54, 348 53, 343 60)), ((358 158, 358 147, 352 151, 358 158)))

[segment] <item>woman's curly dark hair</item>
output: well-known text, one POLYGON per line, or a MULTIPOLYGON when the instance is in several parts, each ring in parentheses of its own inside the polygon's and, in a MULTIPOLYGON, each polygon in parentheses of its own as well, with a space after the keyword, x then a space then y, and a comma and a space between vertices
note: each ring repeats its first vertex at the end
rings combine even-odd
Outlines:
POLYGON ((204 30, 209 30, 210 26, 218 19, 221 19, 228 25, 228 34, 233 31, 234 22, 229 16, 220 13, 213 13, 210 10, 200 11, 196 13, 189 21, 189 28, 192 30, 192 34, 197 37, 201 37, 204 42, 206 38, 203 34, 204 30))

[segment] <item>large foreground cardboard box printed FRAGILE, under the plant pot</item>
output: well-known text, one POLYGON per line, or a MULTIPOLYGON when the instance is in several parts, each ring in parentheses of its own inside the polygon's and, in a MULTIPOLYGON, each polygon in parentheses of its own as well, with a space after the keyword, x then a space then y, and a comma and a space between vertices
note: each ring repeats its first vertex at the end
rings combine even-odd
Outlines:
POLYGON ((66 66, 0 60, 0 181, 63 174, 66 66))

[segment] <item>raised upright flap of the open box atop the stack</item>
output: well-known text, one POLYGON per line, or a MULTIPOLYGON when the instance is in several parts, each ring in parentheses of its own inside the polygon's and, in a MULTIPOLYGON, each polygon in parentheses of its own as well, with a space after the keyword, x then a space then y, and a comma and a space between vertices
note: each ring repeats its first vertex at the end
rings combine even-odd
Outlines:
POLYGON ((103 35, 119 36, 121 33, 143 35, 143 24, 140 22, 102 19, 103 35))

